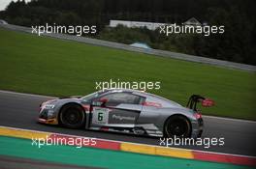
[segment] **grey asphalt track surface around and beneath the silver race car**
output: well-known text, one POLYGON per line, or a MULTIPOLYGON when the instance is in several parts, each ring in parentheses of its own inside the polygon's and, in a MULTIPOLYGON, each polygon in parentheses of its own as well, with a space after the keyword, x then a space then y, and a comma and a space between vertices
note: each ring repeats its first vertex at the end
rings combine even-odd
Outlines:
MULTIPOLYGON (((0 91, 0 126, 20 127, 41 131, 58 132, 86 137, 159 145, 159 138, 142 137, 85 129, 51 127, 37 123, 39 104, 50 99, 45 96, 0 91)), ((236 155, 256 156, 256 122, 205 116, 203 138, 224 137, 224 146, 182 146, 195 149, 236 155)))

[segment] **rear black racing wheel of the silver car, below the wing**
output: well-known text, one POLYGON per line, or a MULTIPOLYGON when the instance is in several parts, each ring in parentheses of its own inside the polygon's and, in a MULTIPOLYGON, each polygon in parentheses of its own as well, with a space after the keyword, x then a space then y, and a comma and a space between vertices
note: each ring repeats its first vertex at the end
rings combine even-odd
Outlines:
POLYGON ((191 125, 184 116, 170 117, 164 127, 164 135, 169 138, 187 138, 191 135, 191 125))

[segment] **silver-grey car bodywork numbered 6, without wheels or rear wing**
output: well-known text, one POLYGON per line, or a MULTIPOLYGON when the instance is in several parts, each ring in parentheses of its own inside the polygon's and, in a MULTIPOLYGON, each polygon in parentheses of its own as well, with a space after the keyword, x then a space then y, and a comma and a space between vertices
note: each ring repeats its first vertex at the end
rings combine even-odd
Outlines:
POLYGON ((190 123, 190 136, 200 137, 203 119, 197 112, 178 103, 136 90, 112 89, 99 91, 82 98, 50 99, 41 104, 39 122, 59 124, 61 109, 77 104, 85 114, 85 129, 118 131, 150 136, 163 136, 167 120, 183 116, 190 123), (102 105, 100 99, 109 101, 102 105))

